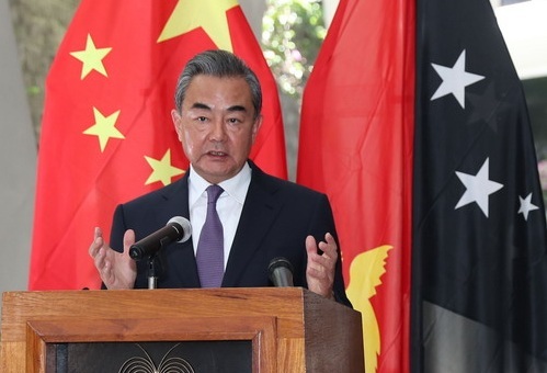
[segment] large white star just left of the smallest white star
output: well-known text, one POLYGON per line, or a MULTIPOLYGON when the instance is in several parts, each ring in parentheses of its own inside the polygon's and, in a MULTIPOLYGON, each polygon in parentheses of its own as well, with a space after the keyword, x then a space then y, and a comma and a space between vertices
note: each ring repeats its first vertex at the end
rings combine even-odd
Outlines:
POLYGON ((459 180, 466 187, 466 191, 454 210, 476 202, 488 217, 488 196, 503 188, 503 184, 488 179, 488 165, 489 158, 482 163, 476 176, 456 171, 459 180))

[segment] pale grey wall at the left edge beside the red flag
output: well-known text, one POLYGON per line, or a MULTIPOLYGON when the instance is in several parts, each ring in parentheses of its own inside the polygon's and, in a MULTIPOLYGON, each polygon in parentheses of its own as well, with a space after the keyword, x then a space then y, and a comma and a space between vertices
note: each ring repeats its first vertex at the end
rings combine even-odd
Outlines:
POLYGON ((0 292, 26 290, 36 140, 8 0, 0 0, 0 292))

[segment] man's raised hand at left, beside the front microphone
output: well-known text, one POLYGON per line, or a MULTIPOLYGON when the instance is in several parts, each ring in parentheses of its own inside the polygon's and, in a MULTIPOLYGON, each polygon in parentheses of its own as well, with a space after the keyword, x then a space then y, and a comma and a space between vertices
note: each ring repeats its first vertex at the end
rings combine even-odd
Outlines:
POLYGON ((124 235, 124 252, 117 252, 104 242, 101 228, 95 228, 89 255, 93 258, 106 289, 133 289, 135 286, 137 264, 129 257, 129 247, 133 244, 135 244, 135 231, 128 229, 124 235))

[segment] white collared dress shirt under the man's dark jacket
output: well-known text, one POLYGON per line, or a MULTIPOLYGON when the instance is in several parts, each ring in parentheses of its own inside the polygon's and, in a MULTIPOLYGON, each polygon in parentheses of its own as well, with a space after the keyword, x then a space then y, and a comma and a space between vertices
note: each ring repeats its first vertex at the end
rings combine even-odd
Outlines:
MULTIPOLYGON (((224 268, 228 262, 236 229, 243 210, 243 203, 251 183, 251 168, 246 162, 241 171, 229 180, 225 180, 218 185, 224 189, 223 194, 217 201, 217 212, 223 223, 224 229, 224 268)), ((190 166, 189 176, 189 207, 190 223, 192 224, 192 241, 194 245, 194 255, 197 251, 197 242, 202 227, 205 224, 207 215, 207 187, 210 183, 198 176, 192 166, 190 166)))

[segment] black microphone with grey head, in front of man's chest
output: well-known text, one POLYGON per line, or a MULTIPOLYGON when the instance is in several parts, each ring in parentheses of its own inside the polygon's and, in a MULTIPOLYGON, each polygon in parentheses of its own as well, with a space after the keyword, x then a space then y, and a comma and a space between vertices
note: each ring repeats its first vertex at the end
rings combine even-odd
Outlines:
POLYGON ((140 260, 158 252, 161 247, 171 242, 185 242, 192 235, 190 221, 182 216, 174 216, 167 222, 166 226, 146 236, 129 248, 129 257, 140 260))

